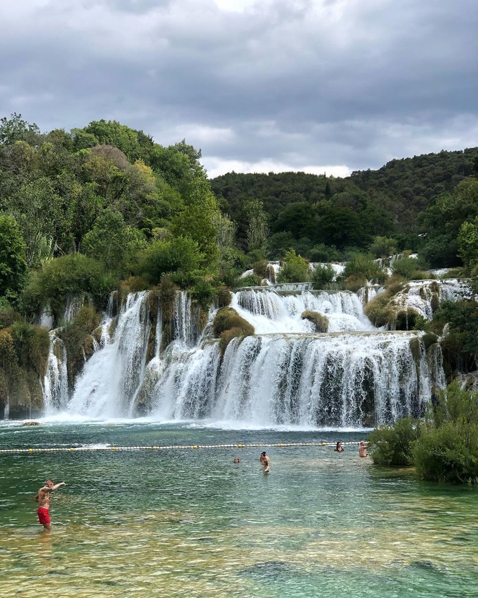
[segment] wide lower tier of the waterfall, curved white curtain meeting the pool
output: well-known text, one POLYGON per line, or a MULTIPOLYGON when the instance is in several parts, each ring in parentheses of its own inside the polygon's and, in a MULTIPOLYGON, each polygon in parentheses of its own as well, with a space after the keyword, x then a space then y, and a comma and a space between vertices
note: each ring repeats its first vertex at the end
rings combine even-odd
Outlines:
POLYGON ((430 398, 417 332, 271 334, 235 339, 222 364, 217 344, 177 356, 153 397, 164 419, 258 426, 361 426, 422 414, 430 398))

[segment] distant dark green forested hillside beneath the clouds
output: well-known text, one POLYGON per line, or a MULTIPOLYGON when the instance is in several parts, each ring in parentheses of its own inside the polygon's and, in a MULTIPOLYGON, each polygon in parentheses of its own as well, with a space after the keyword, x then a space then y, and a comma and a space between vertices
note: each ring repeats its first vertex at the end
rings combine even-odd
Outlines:
POLYGON ((424 249, 430 263, 454 266, 461 263, 456 227, 452 234, 437 228, 432 206, 478 172, 477 155, 478 148, 470 148, 391 160, 379 170, 353 172, 345 179, 232 172, 212 179, 211 186, 222 209, 237 222, 238 240, 246 249, 251 201, 258 200, 274 257, 293 246, 311 260, 345 259, 367 249, 375 236, 393 236, 400 251, 424 249), (452 247, 446 248, 449 242, 452 247))

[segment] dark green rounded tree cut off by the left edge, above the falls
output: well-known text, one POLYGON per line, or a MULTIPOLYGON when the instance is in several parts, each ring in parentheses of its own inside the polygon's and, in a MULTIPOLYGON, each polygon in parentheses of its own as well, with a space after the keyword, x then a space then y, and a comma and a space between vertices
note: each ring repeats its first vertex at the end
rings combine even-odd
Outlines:
POLYGON ((16 220, 0 214, 0 297, 15 299, 26 276, 26 245, 16 220))

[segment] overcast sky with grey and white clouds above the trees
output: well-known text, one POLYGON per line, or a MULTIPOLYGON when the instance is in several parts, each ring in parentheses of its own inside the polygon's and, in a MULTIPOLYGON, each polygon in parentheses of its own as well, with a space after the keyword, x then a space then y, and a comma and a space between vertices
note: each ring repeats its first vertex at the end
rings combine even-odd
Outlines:
POLYGON ((186 138, 210 176, 478 145, 476 0, 16 0, 0 22, 0 115, 186 138))

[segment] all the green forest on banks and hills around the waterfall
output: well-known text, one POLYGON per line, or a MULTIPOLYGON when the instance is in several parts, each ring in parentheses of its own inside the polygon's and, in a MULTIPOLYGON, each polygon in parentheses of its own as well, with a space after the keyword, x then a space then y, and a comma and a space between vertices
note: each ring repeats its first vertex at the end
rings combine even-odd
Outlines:
POLYGON ((210 181, 200 159, 185 140, 166 147, 117 121, 42 133, 19 114, 1 119, 0 398, 38 403, 50 347, 42 314, 75 364, 91 355, 85 339, 113 291, 173 297, 188 289, 207 313, 228 304, 228 289, 261 284, 273 259, 283 266, 278 282, 350 291, 385 283, 368 308, 373 324, 436 336, 448 322, 451 370, 475 367, 474 301, 437 309, 432 323, 392 308, 394 294, 430 277, 429 267, 458 266, 455 274, 476 279, 476 148, 393 160, 345 179, 228 173, 210 181), (397 251, 419 259, 400 260, 388 277, 376 258, 397 251), (310 261, 347 267, 335 279, 310 261), (66 321, 65 305, 78 294, 88 304, 66 321))

